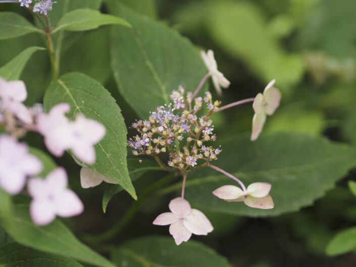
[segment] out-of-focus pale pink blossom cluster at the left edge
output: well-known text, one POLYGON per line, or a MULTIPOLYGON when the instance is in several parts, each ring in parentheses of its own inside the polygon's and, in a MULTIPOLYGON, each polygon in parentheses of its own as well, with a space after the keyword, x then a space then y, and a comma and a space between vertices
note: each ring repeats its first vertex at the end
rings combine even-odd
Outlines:
POLYGON ((42 162, 29 151, 26 143, 18 139, 28 131, 38 132, 55 156, 71 150, 83 164, 91 165, 96 160, 94 145, 104 138, 106 129, 82 114, 70 121, 66 117, 71 108, 68 103, 57 104, 45 114, 38 105, 27 108, 23 104, 26 98, 24 82, 7 82, 0 78, 0 127, 6 132, 0 134, 0 188, 16 195, 27 181, 27 190, 32 197, 31 218, 37 225, 46 225, 56 216, 79 215, 84 205, 67 188, 68 177, 62 167, 50 172, 45 179, 37 177, 43 170, 42 162))

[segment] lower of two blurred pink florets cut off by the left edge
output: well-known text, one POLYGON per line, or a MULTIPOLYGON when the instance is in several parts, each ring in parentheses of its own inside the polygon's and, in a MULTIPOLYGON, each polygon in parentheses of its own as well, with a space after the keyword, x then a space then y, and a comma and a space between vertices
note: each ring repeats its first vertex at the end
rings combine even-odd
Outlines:
POLYGON ((0 135, 0 187, 8 193, 20 193, 28 176, 42 171, 41 161, 28 152, 25 143, 0 135))

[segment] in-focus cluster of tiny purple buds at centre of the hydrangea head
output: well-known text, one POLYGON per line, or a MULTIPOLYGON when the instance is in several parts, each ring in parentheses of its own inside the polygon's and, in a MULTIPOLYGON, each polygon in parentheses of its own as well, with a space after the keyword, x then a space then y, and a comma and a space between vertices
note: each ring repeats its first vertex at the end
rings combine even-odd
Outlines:
POLYGON ((185 96, 184 91, 183 87, 174 90, 171 94, 173 104, 159 106, 148 120, 132 124, 132 128, 140 133, 128 141, 134 155, 157 156, 167 152, 167 165, 181 171, 217 159, 221 149, 206 142, 216 140, 210 115, 219 110, 221 102, 213 102, 210 92, 206 92, 204 98, 191 99, 192 93, 185 96), (207 114, 198 116, 204 104, 207 114))

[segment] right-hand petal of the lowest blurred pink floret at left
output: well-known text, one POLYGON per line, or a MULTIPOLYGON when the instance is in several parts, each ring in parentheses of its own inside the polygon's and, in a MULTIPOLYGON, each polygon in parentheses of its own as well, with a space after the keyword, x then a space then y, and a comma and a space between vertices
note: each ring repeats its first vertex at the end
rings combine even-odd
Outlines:
POLYGON ((62 191, 56 198, 55 211, 61 217, 73 217, 82 213, 84 210, 83 202, 69 189, 62 191))

